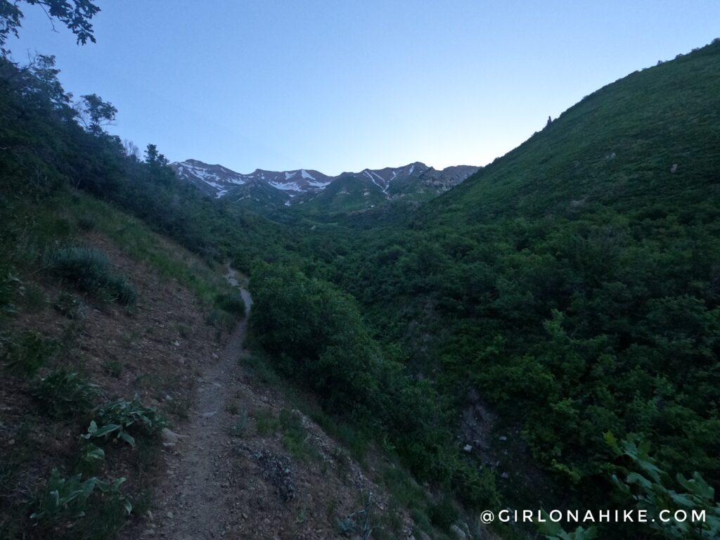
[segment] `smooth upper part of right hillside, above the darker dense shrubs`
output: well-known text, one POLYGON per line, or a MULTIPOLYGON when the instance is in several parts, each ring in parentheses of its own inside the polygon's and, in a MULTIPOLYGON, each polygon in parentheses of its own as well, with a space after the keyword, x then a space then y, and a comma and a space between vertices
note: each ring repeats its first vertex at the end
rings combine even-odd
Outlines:
POLYGON ((428 204, 426 220, 574 217, 716 196, 720 42, 631 73, 428 204))

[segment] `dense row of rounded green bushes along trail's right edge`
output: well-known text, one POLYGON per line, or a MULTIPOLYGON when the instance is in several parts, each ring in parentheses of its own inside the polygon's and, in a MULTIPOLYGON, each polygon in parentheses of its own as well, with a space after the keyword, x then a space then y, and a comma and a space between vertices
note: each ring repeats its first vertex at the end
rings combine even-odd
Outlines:
POLYGON ((266 263, 253 269, 250 287, 251 329, 282 374, 328 412, 384 438, 418 478, 454 489, 474 508, 498 503, 492 477, 459 456, 441 396, 410 377, 397 350, 370 338, 352 297, 266 263))

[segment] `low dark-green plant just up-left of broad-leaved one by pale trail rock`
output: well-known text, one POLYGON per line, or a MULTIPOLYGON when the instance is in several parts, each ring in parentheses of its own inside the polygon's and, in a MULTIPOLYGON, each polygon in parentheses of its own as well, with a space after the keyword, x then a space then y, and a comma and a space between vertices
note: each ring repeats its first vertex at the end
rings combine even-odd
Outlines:
POLYGON ((101 394, 96 384, 84 382, 78 374, 62 370, 40 379, 32 390, 32 395, 56 418, 90 410, 95 398, 101 394))

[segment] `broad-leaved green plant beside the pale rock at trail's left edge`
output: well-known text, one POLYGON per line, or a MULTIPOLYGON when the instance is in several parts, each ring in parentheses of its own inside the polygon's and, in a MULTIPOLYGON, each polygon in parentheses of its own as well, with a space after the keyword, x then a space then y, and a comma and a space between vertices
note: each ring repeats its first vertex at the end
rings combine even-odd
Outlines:
POLYGON ((140 429, 147 435, 156 435, 166 426, 166 420, 156 408, 145 407, 140 402, 140 397, 135 395, 132 401, 121 399, 104 405, 82 437, 89 440, 107 439, 112 435, 116 440, 125 441, 135 448, 135 438, 129 433, 131 426, 134 426, 134 430, 140 429))

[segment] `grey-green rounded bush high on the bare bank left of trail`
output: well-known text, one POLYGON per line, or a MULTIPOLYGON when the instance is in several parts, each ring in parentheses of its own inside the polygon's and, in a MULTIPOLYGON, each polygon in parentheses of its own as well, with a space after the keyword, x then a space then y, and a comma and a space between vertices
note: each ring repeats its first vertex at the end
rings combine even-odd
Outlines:
POLYGON ((83 292, 133 305, 137 293, 125 276, 112 271, 105 253, 94 248, 62 248, 48 256, 50 269, 83 292))

